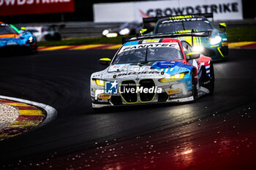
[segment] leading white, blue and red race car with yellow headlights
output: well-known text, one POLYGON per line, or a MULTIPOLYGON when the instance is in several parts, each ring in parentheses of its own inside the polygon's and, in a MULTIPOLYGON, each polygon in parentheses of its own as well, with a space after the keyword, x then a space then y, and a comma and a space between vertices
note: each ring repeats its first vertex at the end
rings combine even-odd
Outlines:
POLYGON ((92 107, 195 101, 213 93, 211 58, 171 38, 189 34, 140 36, 125 42, 112 61, 100 59, 108 68, 91 74, 92 107))

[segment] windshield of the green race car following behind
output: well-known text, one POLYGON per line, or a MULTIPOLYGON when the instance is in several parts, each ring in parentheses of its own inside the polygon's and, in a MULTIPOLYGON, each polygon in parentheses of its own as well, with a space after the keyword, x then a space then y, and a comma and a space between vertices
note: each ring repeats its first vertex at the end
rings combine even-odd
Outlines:
POLYGON ((185 21, 175 23, 159 23, 157 26, 156 34, 159 33, 175 33, 176 31, 184 30, 198 30, 206 31, 212 30, 213 27, 208 20, 185 21))

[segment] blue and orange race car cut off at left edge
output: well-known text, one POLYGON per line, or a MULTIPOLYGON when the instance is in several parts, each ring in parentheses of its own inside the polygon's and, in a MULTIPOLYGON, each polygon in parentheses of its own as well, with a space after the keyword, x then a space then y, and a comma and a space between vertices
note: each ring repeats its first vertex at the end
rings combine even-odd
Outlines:
POLYGON ((37 51, 35 37, 29 31, 0 22, 0 50, 5 53, 34 53, 37 51))

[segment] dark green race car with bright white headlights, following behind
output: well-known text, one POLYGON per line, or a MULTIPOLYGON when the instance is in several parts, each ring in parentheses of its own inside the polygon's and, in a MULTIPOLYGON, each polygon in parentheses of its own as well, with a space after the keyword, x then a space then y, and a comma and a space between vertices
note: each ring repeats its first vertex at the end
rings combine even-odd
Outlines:
MULTIPOLYGON (((206 14, 212 18, 212 14, 206 14)), ((225 33, 225 23, 220 23, 220 31, 211 24, 205 16, 200 15, 180 15, 170 17, 157 17, 157 18, 143 18, 143 23, 150 23, 156 21, 153 34, 174 34, 186 33, 191 31, 209 31, 209 36, 206 37, 178 37, 189 42, 195 51, 203 53, 213 60, 228 58, 227 34, 225 33)))

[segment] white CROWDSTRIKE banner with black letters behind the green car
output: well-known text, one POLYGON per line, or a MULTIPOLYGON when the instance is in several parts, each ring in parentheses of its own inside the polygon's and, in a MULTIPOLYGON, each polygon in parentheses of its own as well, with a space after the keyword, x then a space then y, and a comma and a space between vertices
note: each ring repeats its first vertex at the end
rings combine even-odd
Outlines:
POLYGON ((94 4, 94 22, 142 22, 142 18, 213 12, 214 20, 242 20, 241 0, 170 0, 94 4))

